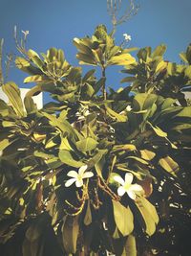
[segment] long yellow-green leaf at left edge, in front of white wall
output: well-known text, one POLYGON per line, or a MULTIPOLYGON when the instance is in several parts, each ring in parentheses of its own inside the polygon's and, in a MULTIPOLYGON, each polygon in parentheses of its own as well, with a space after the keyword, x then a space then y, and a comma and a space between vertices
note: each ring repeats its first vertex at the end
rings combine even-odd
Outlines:
POLYGON ((18 86, 13 81, 10 81, 4 84, 2 86, 2 89, 8 96, 15 113, 20 117, 25 116, 24 107, 18 86))

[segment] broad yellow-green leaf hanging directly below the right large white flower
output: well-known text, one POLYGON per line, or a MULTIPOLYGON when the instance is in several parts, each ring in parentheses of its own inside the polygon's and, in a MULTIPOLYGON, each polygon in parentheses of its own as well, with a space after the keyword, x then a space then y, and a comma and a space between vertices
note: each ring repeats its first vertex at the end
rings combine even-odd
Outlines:
POLYGON ((132 211, 129 206, 124 207, 119 201, 112 200, 112 202, 117 228, 124 237, 128 236, 134 230, 134 216, 132 211))

